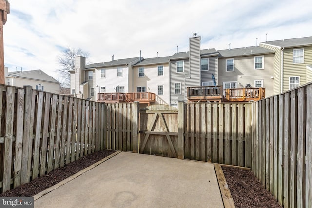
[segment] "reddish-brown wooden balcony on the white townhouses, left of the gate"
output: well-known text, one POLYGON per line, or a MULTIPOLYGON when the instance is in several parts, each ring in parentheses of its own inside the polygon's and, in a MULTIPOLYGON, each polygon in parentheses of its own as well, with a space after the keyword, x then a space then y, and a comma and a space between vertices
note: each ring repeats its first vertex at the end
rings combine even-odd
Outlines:
POLYGON ((155 93, 98 93, 98 102, 119 103, 134 101, 150 104, 155 102, 155 93))

